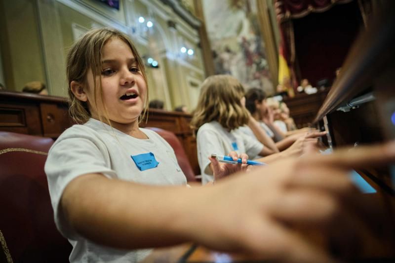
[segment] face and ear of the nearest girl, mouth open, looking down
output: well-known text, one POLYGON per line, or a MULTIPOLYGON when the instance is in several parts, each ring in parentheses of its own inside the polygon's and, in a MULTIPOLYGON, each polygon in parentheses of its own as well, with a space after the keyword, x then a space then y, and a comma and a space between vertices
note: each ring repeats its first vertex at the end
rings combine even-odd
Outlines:
MULTIPOLYGON (((103 104, 107 109, 109 119, 114 124, 137 124, 138 117, 144 109, 147 85, 138 68, 137 61, 130 47, 118 38, 107 41, 102 50, 100 75, 103 104)), ((87 74, 88 102, 94 101, 93 74, 87 74)), ((99 85, 99 76, 96 84, 99 85)), ((102 111, 97 111, 89 103, 93 118, 98 118, 102 111)))

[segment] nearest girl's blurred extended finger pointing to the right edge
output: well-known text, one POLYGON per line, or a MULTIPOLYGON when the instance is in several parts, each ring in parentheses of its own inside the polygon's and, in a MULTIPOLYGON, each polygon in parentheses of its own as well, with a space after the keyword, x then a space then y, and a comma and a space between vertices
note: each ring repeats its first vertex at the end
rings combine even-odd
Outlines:
POLYGON ((379 166, 395 162, 395 141, 373 146, 359 146, 352 152, 349 149, 335 150, 328 155, 309 155, 299 160, 302 165, 333 166, 351 169, 354 167, 379 166))

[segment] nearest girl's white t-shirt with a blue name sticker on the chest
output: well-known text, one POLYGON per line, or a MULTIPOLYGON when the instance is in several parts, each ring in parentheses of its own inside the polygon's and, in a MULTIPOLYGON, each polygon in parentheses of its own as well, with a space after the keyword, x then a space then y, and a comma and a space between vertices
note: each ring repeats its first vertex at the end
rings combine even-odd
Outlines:
POLYGON ((133 138, 91 118, 83 125, 68 128, 49 150, 45 173, 55 224, 73 245, 70 262, 137 262, 152 251, 119 250, 98 245, 76 233, 61 213, 58 213, 63 190, 74 178, 83 174, 102 173, 108 178, 149 185, 186 185, 187 180, 171 146, 156 132, 142 128, 140 130, 149 139, 133 138), (146 167, 154 167, 155 160, 158 162, 155 168, 144 170, 146 167))

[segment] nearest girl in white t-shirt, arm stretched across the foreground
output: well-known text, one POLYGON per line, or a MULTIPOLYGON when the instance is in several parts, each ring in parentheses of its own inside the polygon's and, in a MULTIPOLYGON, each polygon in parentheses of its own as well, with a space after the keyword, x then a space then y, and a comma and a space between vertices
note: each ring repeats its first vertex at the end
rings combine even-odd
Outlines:
MULTIPOLYGON (((356 210, 344 209, 353 192, 349 169, 395 160, 389 144, 352 157, 341 151, 286 159, 215 187, 186 188, 170 146, 139 128, 148 88, 131 40, 113 29, 91 30, 72 46, 67 65, 70 112, 79 125, 56 140, 45 172, 55 223, 73 245, 70 262, 137 262, 150 252, 143 248, 187 241, 254 258, 328 261, 333 255, 317 247, 311 231, 335 225, 361 237, 337 221, 356 210), (304 230, 295 234, 297 225, 304 230)), ((218 162, 213 166, 216 172, 218 162)), ((347 236, 322 239, 341 251, 336 244, 347 236)))

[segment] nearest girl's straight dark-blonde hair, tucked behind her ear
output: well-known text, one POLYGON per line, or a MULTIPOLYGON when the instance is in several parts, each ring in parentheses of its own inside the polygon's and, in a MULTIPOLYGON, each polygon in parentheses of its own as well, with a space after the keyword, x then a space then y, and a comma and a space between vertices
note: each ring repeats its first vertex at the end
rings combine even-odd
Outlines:
MULTIPOLYGON (((112 38, 118 38, 124 41, 131 49, 137 66, 143 75, 144 81, 147 84, 147 95, 144 101, 144 113, 139 118, 139 121, 144 118, 148 108, 148 83, 147 75, 144 68, 143 60, 138 53, 134 43, 125 34, 112 28, 99 28, 91 29, 86 32, 81 38, 79 38, 70 48, 67 55, 67 66, 66 74, 68 80, 68 93, 69 93, 69 114, 76 123, 82 124, 88 121, 91 117, 87 102, 80 101, 77 99, 71 91, 71 82, 73 80, 86 84, 86 75, 90 68, 93 74, 93 90, 94 90, 94 101, 93 103, 96 109, 98 109, 100 121, 103 122, 102 116, 108 124, 110 120, 108 118, 107 109, 103 103, 103 90, 101 86, 101 78, 99 78, 99 85, 96 83, 96 78, 101 75, 101 60, 102 50, 108 40, 112 38), (100 107, 98 107, 100 106, 100 107), (101 110, 103 109, 103 111, 101 110)), ((110 124, 111 125, 111 124, 110 124)))

